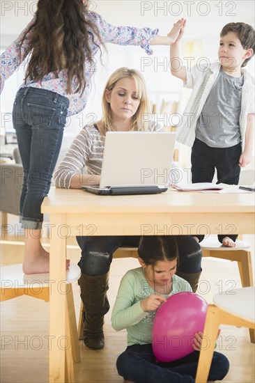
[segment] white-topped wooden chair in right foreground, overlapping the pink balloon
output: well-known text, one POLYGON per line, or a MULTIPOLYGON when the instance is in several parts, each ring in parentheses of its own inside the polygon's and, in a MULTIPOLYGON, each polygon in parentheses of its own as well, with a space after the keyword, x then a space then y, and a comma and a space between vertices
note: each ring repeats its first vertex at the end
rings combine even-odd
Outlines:
POLYGON ((239 288, 222 292, 213 297, 214 304, 208 306, 206 325, 196 371, 196 383, 206 383, 219 325, 253 328, 255 325, 255 288, 239 288))

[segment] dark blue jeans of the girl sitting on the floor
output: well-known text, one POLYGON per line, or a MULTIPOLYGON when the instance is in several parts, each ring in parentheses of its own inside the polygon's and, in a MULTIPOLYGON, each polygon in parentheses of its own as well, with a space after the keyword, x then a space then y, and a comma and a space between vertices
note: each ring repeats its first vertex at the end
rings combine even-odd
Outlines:
MULTIPOLYGON (((160 363, 155 360, 153 347, 132 345, 118 357, 118 374, 125 380, 135 383, 194 383, 199 352, 172 361, 160 363)), ((222 380, 229 371, 229 360, 219 352, 214 352, 208 380, 222 380)))

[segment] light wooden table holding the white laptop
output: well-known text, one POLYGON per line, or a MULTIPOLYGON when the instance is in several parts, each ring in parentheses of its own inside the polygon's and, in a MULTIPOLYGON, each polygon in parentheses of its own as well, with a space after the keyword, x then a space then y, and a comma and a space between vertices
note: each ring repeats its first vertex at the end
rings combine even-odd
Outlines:
MULTIPOLYGON (((97 196, 54 189, 42 203, 50 214, 49 382, 73 381, 65 371, 66 239, 70 235, 190 235, 254 233, 254 194, 176 192, 144 196, 97 196)), ((68 358, 71 360, 71 358, 68 358)))

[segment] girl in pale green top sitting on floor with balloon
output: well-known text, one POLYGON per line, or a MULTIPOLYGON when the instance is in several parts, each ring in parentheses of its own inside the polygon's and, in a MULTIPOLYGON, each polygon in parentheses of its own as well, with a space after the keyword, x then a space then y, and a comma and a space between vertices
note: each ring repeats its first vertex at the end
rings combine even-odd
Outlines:
MULTIPOLYGON (((157 308, 176 292, 192 291, 189 283, 175 274, 178 265, 176 237, 141 237, 138 254, 141 267, 123 276, 111 314, 114 329, 127 329, 127 349, 117 359, 118 373, 130 383, 194 383, 201 332, 194 334, 194 352, 176 361, 156 361, 152 347, 157 308)), ((222 380, 228 371, 228 359, 214 352, 209 382, 222 380)))

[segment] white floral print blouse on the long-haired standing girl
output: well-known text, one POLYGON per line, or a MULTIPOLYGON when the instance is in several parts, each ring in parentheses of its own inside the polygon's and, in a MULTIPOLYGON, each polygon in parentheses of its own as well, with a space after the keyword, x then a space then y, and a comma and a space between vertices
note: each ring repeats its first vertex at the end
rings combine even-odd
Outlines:
MULTIPOLYGON (((100 32, 100 36, 102 38, 102 42, 112 42, 118 45, 140 45, 143 49, 145 49, 147 54, 152 54, 153 52, 150 50, 149 41, 158 33, 158 29, 152 30, 150 28, 135 28, 131 26, 112 26, 107 23, 100 15, 94 12, 88 13, 88 19, 93 22, 96 26, 98 26, 98 30, 100 32)), ((31 21, 33 23, 34 19, 31 21)), ((1 77, 0 77, 0 90, 3 89, 3 84, 10 75, 15 72, 15 70, 20 66, 23 62, 23 58, 19 60, 20 57, 20 43, 24 36, 24 33, 29 29, 31 23, 26 26, 26 29, 22 31, 20 36, 6 49, 3 54, 1 54, 1 77)), ((89 28, 88 28, 89 30, 89 28)), ((92 32, 92 31, 91 31, 92 32)), ((29 45, 29 35, 30 32, 26 35, 26 38, 22 44, 21 54, 24 55, 26 47, 29 45)), ((100 45, 100 41, 98 38, 95 38, 95 43, 100 45)), ((98 47, 93 43, 92 38, 90 37, 90 45, 92 55, 98 52, 98 47)), ((50 72, 48 75, 42 78, 39 81, 33 81, 32 79, 27 80, 26 84, 22 84, 24 86, 33 86, 34 88, 42 88, 47 89, 49 91, 53 91, 68 97, 70 101, 68 116, 72 116, 74 114, 79 113, 86 107, 86 102, 88 99, 88 94, 91 88, 91 77, 93 76, 93 72, 95 72, 95 66, 91 65, 88 61, 85 61, 84 65, 85 70, 85 79, 86 79, 86 88, 83 95, 79 95, 79 93, 67 94, 67 80, 68 80, 68 71, 60 70, 58 73, 58 77, 54 75, 53 72, 50 72)), ((75 84, 74 84, 75 85, 75 84)))

